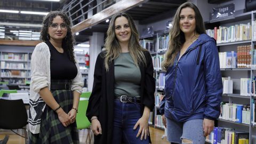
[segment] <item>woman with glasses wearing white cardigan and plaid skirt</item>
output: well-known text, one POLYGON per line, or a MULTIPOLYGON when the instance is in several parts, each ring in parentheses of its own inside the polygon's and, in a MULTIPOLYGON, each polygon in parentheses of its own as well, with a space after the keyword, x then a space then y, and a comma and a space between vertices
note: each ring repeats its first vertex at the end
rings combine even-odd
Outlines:
POLYGON ((31 57, 30 143, 79 143, 76 113, 82 75, 68 16, 50 12, 31 57))

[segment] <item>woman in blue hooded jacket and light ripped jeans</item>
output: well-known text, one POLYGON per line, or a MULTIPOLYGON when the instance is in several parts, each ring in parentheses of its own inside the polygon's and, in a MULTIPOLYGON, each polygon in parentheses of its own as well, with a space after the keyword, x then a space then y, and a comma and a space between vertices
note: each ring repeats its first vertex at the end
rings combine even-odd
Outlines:
POLYGON ((163 62, 161 114, 171 143, 204 143, 220 115, 222 81, 215 40, 205 34, 195 4, 180 5, 163 62))

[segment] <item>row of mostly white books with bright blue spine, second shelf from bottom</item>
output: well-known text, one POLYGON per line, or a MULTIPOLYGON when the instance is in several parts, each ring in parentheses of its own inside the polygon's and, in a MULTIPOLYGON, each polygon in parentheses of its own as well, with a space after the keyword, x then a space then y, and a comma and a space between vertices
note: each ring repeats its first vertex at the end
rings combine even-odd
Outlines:
POLYGON ((221 102, 221 114, 219 118, 236 123, 250 124, 250 113, 250 105, 221 102))

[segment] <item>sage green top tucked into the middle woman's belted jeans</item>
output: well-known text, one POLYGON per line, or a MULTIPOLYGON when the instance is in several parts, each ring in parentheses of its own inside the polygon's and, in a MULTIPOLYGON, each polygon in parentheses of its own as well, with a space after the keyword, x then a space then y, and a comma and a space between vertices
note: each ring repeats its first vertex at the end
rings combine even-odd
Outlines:
POLYGON ((137 67, 130 52, 121 53, 115 63, 115 94, 140 98, 140 68, 137 67))

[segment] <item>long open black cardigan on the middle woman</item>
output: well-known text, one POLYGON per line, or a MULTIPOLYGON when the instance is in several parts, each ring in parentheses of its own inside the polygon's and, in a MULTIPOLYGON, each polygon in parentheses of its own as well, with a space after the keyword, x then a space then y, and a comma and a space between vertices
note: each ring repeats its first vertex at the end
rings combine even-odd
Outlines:
MULTIPOLYGON (((105 51, 101 52, 96 60, 94 69, 94 80, 89 105, 86 116, 90 119, 97 116, 101 124, 102 134, 94 135, 94 143, 112 143, 113 121, 114 121, 114 61, 109 65, 109 71, 104 66, 105 51)), ((143 52, 147 61, 147 66, 139 65, 141 73, 141 115, 144 107, 151 111, 155 106, 155 78, 151 55, 148 51, 143 52)), ((118 137, 118 136, 117 136, 118 137)))

